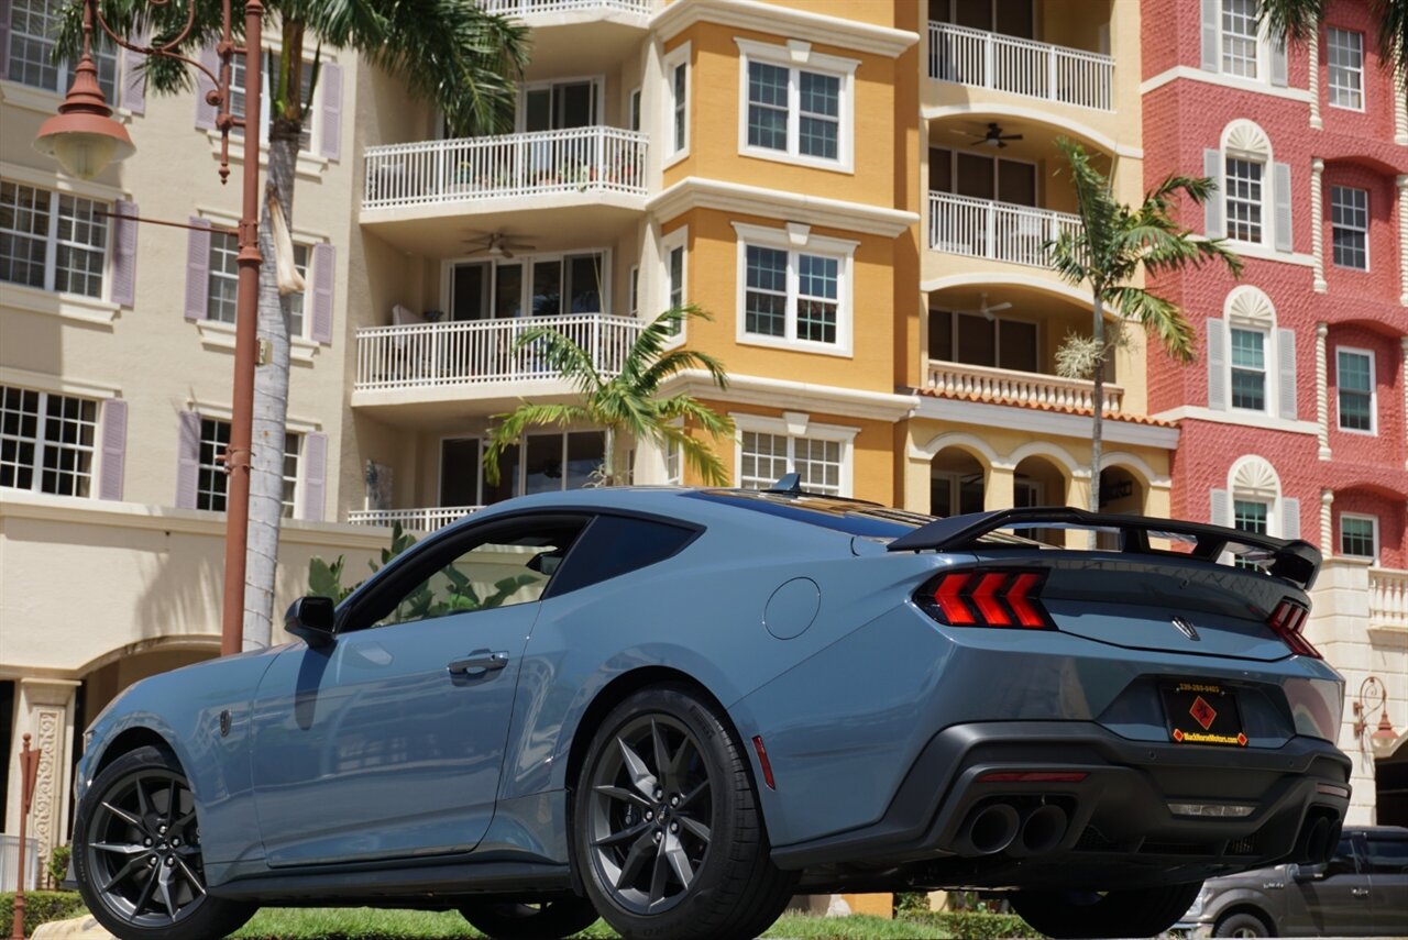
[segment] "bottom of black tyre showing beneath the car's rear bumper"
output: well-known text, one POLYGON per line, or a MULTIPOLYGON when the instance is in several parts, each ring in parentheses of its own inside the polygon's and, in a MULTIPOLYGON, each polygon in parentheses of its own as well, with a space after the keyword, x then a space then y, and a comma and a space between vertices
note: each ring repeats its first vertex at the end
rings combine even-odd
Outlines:
POLYGON ((1048 937, 1152 937, 1193 906, 1202 882, 1138 891, 1018 891, 1012 909, 1048 937))

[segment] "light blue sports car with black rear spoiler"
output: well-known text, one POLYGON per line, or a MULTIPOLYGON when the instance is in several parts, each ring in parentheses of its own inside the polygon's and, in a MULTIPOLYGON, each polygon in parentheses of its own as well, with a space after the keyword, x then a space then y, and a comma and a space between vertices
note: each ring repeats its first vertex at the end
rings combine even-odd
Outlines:
POLYGON ((303 642, 121 695, 86 736, 75 875, 124 939, 367 903, 750 937, 797 892, 955 887, 1052 936, 1149 936, 1204 878, 1336 843, 1318 566, 796 478, 511 500, 294 604, 303 642), (1100 550, 1041 540, 1062 526, 1100 550))

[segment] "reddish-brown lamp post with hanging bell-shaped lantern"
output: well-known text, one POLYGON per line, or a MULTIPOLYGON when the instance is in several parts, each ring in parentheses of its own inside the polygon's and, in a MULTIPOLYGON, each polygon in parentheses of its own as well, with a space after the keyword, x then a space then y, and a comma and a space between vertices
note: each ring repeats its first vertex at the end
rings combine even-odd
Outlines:
MULTIPOLYGON (((230 179, 230 131, 245 128, 244 153, 244 203, 239 215, 239 255, 235 263, 239 270, 235 294, 235 383, 232 415, 230 422, 230 445, 225 447, 224 463, 228 476, 225 487, 225 592, 220 619, 220 653, 238 653, 244 637, 245 598, 245 554, 249 540, 249 457, 252 443, 252 418, 255 394, 255 353, 258 339, 255 321, 259 315, 259 32, 263 20, 260 0, 245 3, 244 46, 237 46, 232 37, 231 0, 224 0, 221 38, 215 46, 220 56, 218 75, 200 62, 179 52, 180 45, 196 23, 196 0, 189 0, 186 25, 175 38, 155 46, 139 46, 117 35, 103 20, 97 0, 83 3, 83 55, 73 73, 73 84, 59 106, 59 114, 39 127, 34 149, 54 156, 72 176, 92 179, 113 160, 131 156, 137 148, 127 129, 113 120, 113 110, 103 97, 97 83, 97 68, 93 65, 93 24, 117 45, 139 55, 179 59, 200 69, 210 77, 214 89, 206 94, 206 101, 217 110, 215 127, 221 134, 220 180, 230 179), (237 55, 245 58, 245 114, 242 118, 230 113, 231 62, 237 55), (253 132, 251 132, 253 128, 253 132)), ((170 0, 148 0, 151 7, 165 7, 170 0)))

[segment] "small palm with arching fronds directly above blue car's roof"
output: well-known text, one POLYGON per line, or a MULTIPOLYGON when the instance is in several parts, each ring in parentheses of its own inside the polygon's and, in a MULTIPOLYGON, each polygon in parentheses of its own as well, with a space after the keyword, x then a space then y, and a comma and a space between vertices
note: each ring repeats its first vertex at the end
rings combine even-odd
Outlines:
POLYGON ((690 424, 711 438, 731 435, 734 422, 698 402, 691 394, 659 397, 660 386, 670 376, 686 369, 703 369, 719 388, 728 388, 728 373, 722 363, 693 349, 670 349, 689 318, 710 319, 698 307, 676 307, 656 317, 641 331, 621 362, 621 371, 603 376, 591 362, 591 353, 574 339, 551 326, 536 326, 524 332, 515 349, 532 346, 545 363, 576 387, 580 402, 534 404, 524 401, 514 411, 496 415, 498 425, 490 432, 484 452, 484 477, 498 483, 498 457, 518 443, 524 431, 535 426, 596 425, 605 431, 600 478, 603 485, 615 485, 622 470, 617 449, 625 435, 636 440, 650 440, 663 447, 680 447, 686 463, 711 484, 728 483, 724 462, 714 449, 690 435, 690 424))

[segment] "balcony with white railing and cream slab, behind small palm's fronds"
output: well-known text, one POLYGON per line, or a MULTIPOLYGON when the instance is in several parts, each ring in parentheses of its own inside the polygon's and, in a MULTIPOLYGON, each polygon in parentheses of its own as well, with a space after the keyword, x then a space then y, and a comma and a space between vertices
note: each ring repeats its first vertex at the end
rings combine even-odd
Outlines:
POLYGON ((473 400, 503 408, 525 394, 569 398, 572 387, 541 349, 515 348, 518 338, 535 326, 562 331, 590 350, 598 373, 614 376, 645 324, 611 314, 565 314, 366 326, 356 335, 352 404, 456 405, 473 400))

